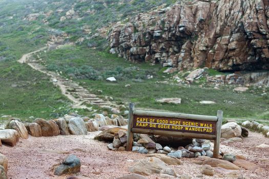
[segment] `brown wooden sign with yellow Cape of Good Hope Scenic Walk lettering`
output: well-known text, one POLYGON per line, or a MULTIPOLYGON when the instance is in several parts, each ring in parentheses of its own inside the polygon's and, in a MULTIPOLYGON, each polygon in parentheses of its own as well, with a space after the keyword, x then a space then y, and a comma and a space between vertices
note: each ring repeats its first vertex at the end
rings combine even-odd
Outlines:
POLYGON ((133 133, 214 140, 213 157, 218 158, 223 112, 217 116, 135 110, 129 106, 127 151, 132 150, 133 133))

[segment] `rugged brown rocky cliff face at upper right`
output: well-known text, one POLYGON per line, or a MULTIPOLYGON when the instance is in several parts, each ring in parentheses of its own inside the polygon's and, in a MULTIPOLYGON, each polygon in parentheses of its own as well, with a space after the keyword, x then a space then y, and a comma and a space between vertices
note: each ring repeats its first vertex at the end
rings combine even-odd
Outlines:
POLYGON ((269 1, 181 1, 140 13, 109 34, 111 53, 172 71, 269 69, 269 1))

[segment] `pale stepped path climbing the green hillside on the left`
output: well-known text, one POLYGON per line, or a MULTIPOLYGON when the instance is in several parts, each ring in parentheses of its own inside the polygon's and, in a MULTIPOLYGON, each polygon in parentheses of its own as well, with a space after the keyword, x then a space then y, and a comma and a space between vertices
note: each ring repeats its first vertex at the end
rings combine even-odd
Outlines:
MULTIPOLYGON (((79 84, 70 79, 61 76, 59 73, 48 71, 46 66, 42 64, 42 59, 31 58, 32 55, 46 49, 48 48, 41 48, 37 51, 25 54, 22 58, 18 60, 18 62, 27 63, 34 70, 37 70, 50 76, 53 84, 59 86, 59 88, 61 89, 61 93, 63 93, 63 95, 65 95, 73 102, 73 108, 86 108, 91 110, 91 108, 87 107, 86 104, 92 104, 98 105, 100 108, 108 108, 113 113, 119 113, 119 106, 117 106, 113 102, 107 99, 102 99, 97 95, 91 94, 86 88, 80 86, 79 84)), ((37 57, 38 56, 39 55, 37 54, 37 57)))

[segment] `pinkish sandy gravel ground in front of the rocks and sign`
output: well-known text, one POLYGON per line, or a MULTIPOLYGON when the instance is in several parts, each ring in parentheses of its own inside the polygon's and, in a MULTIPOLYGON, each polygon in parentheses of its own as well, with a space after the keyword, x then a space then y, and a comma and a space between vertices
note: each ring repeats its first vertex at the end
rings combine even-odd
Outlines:
MULTIPOLYGON (((15 147, 3 145, 0 151, 8 158, 8 177, 15 178, 66 178, 54 176, 54 165, 59 164, 68 154, 75 154, 81 160, 79 178, 116 178, 128 174, 128 167, 136 160, 146 158, 146 155, 135 152, 119 152, 107 149, 107 144, 93 140, 98 132, 87 136, 57 136, 20 140, 15 147)), ((268 178, 269 148, 256 148, 262 143, 269 144, 269 139, 260 133, 250 132, 249 138, 243 142, 222 142, 222 151, 232 151, 243 154, 248 161, 257 164, 261 171, 240 169, 239 176, 244 178, 268 178)), ((200 165, 193 164, 194 159, 182 158, 182 165, 171 166, 178 174, 188 174, 192 178, 227 178, 215 174, 206 176, 200 173, 200 165)), ((159 178, 151 175, 149 178, 159 178)))

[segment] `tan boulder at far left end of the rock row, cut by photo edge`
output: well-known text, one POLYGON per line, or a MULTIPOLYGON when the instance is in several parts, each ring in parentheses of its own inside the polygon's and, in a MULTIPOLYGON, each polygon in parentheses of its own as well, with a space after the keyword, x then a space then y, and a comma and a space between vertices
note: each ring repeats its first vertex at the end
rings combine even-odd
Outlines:
POLYGON ((15 146, 19 140, 19 133, 14 129, 0 130, 0 140, 3 144, 15 146))

